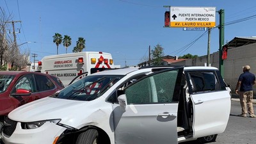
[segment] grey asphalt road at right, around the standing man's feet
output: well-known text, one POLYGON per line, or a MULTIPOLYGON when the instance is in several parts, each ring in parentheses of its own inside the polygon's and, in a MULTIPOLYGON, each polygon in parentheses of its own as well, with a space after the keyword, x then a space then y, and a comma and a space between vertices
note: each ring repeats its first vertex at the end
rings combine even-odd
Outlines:
MULTIPOLYGON (((253 104, 256 113, 256 104, 253 104)), ((232 101, 228 125, 222 134, 218 134, 216 141, 211 144, 255 144, 256 143, 256 118, 243 118, 241 106, 237 101, 232 101)), ((248 115, 249 116, 249 115, 248 115)), ((197 141, 189 141, 180 144, 198 144, 197 141)))

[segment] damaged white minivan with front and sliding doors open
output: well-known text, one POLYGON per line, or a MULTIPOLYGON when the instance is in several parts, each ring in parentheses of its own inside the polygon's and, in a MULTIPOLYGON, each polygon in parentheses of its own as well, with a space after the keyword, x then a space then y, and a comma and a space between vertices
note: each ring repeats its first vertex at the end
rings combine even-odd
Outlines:
POLYGON ((20 106, 1 133, 5 144, 206 143, 225 131, 229 115, 218 68, 120 68, 20 106))

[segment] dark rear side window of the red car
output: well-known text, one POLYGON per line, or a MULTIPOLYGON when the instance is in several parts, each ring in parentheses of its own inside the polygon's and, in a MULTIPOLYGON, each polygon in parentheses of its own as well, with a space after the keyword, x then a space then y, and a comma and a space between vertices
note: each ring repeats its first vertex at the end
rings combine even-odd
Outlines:
POLYGON ((35 74, 36 84, 38 86, 38 91, 42 92, 45 90, 52 90, 55 88, 55 85, 47 76, 35 74))

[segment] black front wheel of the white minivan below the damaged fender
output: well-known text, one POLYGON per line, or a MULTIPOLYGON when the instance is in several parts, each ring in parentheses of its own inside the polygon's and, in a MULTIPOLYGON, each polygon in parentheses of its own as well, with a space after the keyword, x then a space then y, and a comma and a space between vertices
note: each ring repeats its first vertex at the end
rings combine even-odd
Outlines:
POLYGON ((79 134, 76 144, 97 144, 99 133, 96 129, 88 129, 79 134))

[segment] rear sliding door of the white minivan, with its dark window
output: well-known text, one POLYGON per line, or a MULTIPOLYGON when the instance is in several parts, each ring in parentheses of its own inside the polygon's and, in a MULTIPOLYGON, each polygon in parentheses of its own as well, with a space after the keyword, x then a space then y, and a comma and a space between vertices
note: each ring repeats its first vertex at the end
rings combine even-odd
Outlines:
POLYGON ((230 95, 216 70, 185 72, 193 103, 193 137, 225 131, 230 114, 230 95))

